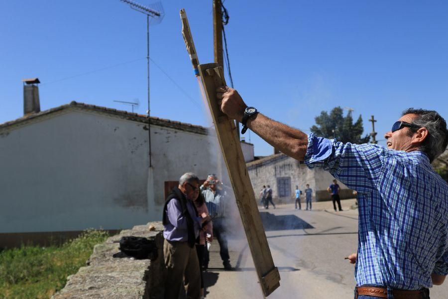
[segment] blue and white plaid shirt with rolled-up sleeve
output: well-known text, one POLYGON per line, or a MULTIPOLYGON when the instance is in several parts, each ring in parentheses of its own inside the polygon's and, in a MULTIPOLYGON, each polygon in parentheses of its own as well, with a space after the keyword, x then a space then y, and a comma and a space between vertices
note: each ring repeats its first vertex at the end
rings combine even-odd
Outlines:
POLYGON ((418 290, 448 274, 448 184, 425 153, 310 134, 305 163, 358 192, 358 286, 418 290))

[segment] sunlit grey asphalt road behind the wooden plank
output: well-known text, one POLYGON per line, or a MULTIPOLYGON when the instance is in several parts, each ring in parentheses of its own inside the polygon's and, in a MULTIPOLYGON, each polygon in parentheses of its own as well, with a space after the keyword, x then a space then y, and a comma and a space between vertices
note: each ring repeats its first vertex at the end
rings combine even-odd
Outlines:
MULTIPOLYGON (((350 209, 354 202, 342 200, 342 212, 334 212, 331 202, 313 203, 312 211, 295 210, 293 204, 260 209, 281 277, 280 288, 269 298, 353 298, 354 265, 344 257, 357 249, 358 212, 350 209)), ((224 271, 218 266, 208 270, 206 297, 263 298, 245 239, 234 237, 229 248, 232 266, 238 271, 224 271)), ((215 265, 221 264, 216 253, 211 265, 213 260, 215 265)), ((435 286, 430 293, 431 299, 447 299, 448 282, 435 286)))

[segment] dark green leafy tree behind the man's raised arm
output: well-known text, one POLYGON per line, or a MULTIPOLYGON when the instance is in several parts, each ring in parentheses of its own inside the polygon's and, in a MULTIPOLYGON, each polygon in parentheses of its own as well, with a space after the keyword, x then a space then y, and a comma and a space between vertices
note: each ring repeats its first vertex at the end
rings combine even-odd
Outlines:
POLYGON ((348 111, 347 116, 344 117, 342 108, 335 107, 330 115, 327 111, 322 111, 321 115, 315 117, 315 121, 317 126, 314 125, 310 129, 317 136, 336 138, 337 141, 343 143, 363 144, 369 142, 369 135, 361 137, 364 132, 361 115, 353 124, 351 111, 348 111))

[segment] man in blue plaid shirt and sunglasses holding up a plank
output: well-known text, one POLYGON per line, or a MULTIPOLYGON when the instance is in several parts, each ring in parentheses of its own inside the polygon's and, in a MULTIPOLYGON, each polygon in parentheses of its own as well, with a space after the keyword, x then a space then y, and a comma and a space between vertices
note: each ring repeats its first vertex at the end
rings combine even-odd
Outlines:
POLYGON ((430 163, 447 148, 448 137, 437 112, 403 112, 385 134, 386 149, 307 135, 246 110, 228 87, 218 88, 217 97, 225 114, 276 149, 310 168, 323 167, 357 191, 358 251, 350 256, 356 262, 355 298, 428 299, 428 289, 444 282, 448 184, 430 163))

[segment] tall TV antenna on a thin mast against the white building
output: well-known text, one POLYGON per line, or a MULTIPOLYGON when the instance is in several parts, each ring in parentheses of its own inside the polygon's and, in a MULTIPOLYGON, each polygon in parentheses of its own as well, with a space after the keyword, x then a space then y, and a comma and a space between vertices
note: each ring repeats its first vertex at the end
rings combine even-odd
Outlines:
POLYGON ((129 4, 129 7, 141 12, 146 15, 146 60, 148 63, 148 135, 149 135, 149 167, 152 166, 151 163, 151 125, 149 124, 149 116, 150 116, 150 106, 149 106, 149 17, 151 17, 151 20, 154 22, 160 23, 165 15, 162 7, 162 3, 157 2, 152 4, 152 6, 157 6, 158 9, 153 9, 151 7, 142 5, 140 3, 130 1, 130 0, 120 0, 121 2, 124 2, 126 4, 129 4))

